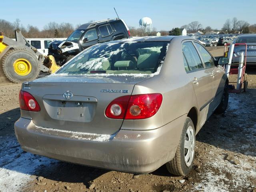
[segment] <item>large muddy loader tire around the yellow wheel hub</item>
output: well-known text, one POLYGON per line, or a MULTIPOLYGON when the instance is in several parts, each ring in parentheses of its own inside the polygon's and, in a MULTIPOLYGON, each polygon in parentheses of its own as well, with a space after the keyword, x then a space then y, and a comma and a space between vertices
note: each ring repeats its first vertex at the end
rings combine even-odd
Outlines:
POLYGON ((39 61, 35 55, 32 53, 22 50, 22 49, 13 49, 9 50, 1 60, 2 70, 5 76, 14 83, 22 83, 30 80, 34 80, 38 77, 40 72, 39 61), (19 59, 24 58, 28 60, 31 64, 31 71, 27 75, 19 75, 14 71, 14 62, 19 59))

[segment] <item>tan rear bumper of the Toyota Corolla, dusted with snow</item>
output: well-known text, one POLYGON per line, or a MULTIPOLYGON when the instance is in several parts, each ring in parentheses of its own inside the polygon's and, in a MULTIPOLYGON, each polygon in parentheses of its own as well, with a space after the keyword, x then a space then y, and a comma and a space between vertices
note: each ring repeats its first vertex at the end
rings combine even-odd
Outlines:
MULTIPOLYGON (((109 141, 45 134, 20 118, 15 134, 22 149, 66 162, 132 173, 149 173, 172 160, 186 115, 154 130, 122 130, 109 141)), ((52 130, 52 129, 51 129, 52 130)))

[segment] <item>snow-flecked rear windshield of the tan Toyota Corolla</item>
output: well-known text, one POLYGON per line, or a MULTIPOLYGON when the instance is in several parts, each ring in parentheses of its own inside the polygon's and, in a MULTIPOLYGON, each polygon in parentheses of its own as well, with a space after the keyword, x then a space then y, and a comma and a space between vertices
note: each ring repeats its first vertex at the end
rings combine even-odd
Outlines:
POLYGON ((158 74, 169 42, 108 43, 88 48, 56 74, 65 75, 132 75, 158 74))

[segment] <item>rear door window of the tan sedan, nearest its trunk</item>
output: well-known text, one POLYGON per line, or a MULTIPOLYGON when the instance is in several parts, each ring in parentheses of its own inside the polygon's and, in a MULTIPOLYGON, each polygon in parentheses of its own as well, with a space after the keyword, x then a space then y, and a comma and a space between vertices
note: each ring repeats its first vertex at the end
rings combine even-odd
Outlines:
POLYGON ((184 42, 182 44, 182 51, 191 71, 204 68, 198 52, 192 42, 184 42))

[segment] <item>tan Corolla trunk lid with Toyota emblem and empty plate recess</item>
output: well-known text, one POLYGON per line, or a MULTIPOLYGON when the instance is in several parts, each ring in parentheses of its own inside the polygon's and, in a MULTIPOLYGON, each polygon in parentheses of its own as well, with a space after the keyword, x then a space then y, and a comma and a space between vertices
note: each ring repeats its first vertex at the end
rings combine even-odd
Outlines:
POLYGON ((110 119, 105 109, 112 100, 131 95, 134 85, 149 76, 48 76, 29 82, 24 91, 38 101, 40 112, 30 112, 36 126, 56 130, 114 134, 122 119, 110 119), (72 93, 65 99, 64 93, 72 93))

